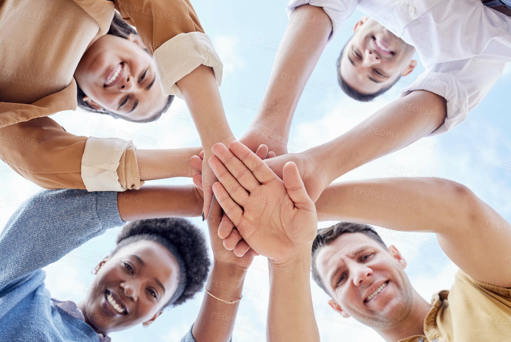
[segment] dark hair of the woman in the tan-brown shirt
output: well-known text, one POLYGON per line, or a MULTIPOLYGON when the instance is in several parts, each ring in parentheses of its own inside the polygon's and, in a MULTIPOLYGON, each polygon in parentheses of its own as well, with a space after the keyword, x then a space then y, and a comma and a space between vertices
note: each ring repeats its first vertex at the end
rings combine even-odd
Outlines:
MULTIPOLYGON (((138 32, 136 32, 136 30, 133 27, 131 27, 126 21, 124 21, 123 17, 121 16, 121 14, 119 14, 118 11, 115 11, 112 22, 110 23, 110 29, 108 30, 107 34, 128 39, 130 34, 138 35, 138 32)), ((144 50, 149 54, 149 51, 147 51, 147 49, 144 50)), ((167 96, 167 104, 159 112, 142 120, 132 120, 129 117, 117 115, 104 109, 96 109, 90 107, 87 102, 83 101, 83 97, 87 95, 83 92, 82 88, 80 88, 78 83, 76 84, 76 88, 77 88, 76 99, 78 101, 78 107, 83 108, 89 112, 107 114, 116 119, 122 118, 126 121, 131 121, 132 123, 150 123, 151 121, 159 119, 160 116, 169 109, 170 105, 172 104, 172 101, 174 100, 174 95, 169 95, 167 96)))

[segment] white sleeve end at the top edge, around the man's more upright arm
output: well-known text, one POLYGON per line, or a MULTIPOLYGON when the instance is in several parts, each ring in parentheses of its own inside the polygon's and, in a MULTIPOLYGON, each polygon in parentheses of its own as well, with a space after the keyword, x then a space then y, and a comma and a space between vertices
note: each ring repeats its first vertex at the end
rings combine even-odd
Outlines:
POLYGON ((330 42, 338 30, 341 30, 346 19, 353 14, 358 5, 358 0, 290 0, 286 11, 291 19, 291 15, 296 7, 302 5, 311 5, 321 7, 332 20, 332 33, 328 41, 330 42))

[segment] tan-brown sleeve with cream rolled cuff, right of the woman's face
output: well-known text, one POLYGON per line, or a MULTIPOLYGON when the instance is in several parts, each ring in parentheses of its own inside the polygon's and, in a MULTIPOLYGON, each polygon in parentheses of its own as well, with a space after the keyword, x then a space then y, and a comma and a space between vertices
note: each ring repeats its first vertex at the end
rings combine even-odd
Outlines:
POLYGON ((189 1, 115 0, 115 9, 153 55, 164 95, 182 97, 176 82, 201 64, 213 68, 220 86, 222 62, 189 1))

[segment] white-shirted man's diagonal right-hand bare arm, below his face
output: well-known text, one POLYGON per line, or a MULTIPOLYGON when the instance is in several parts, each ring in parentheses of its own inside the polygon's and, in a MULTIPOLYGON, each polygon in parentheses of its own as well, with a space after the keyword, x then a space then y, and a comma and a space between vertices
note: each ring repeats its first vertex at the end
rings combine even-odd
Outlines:
POLYGON ((371 160, 400 150, 444 122, 446 100, 426 90, 401 97, 338 138, 305 152, 266 160, 282 178, 288 161, 298 166, 309 196, 316 201, 331 182, 371 160))

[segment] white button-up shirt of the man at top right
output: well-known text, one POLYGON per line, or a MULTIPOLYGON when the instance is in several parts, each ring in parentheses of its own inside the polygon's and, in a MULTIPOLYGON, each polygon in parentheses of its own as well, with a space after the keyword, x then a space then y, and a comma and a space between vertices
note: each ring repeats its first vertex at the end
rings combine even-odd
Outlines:
POLYGON ((413 90, 445 97, 447 118, 432 135, 462 123, 511 61, 511 18, 480 0, 291 0, 288 15, 305 4, 329 15, 329 40, 358 8, 415 47, 426 70, 400 97, 413 90))

